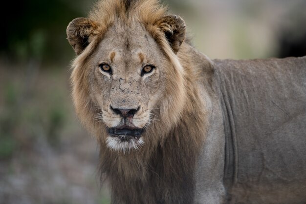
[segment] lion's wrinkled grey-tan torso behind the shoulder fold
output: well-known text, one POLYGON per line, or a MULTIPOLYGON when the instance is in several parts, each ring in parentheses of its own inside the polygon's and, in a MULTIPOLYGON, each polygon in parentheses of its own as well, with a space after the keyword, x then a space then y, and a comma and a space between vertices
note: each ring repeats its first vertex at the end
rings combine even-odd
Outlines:
POLYGON ((232 194, 306 202, 306 57, 214 63, 232 194))

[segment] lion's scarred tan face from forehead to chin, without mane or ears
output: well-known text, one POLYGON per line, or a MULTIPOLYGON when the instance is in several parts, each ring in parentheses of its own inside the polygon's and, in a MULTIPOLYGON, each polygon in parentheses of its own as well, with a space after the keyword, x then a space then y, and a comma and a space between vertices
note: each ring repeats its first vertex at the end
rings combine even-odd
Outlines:
POLYGON ((112 27, 99 43, 88 79, 90 97, 100 110, 96 120, 107 126, 110 148, 138 148, 143 143, 141 134, 157 120, 167 64, 142 26, 132 32, 128 27, 112 27))

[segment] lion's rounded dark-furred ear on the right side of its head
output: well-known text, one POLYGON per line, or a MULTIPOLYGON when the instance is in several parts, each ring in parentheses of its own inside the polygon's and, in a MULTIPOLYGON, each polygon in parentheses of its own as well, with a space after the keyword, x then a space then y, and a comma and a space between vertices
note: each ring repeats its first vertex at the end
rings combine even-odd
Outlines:
POLYGON ((158 22, 158 26, 165 33, 165 37, 172 47, 173 51, 177 53, 180 45, 185 40, 186 24, 185 21, 176 15, 165 16, 158 22))

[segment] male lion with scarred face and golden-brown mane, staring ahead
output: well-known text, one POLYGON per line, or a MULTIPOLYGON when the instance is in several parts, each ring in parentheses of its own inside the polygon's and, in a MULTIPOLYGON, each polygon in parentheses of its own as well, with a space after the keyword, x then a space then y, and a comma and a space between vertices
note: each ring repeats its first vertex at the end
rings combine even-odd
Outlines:
POLYGON ((72 96, 112 204, 306 203, 306 57, 214 60, 158 0, 67 27, 72 96))

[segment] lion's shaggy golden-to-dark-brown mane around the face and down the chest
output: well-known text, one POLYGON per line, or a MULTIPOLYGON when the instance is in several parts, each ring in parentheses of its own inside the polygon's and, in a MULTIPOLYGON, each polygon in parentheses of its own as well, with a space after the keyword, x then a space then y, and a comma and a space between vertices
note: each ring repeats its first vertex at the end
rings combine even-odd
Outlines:
POLYGON ((99 142, 101 178, 110 184, 112 203, 122 200, 131 201, 131 204, 193 202, 194 169, 208 125, 203 117, 206 104, 200 99, 199 87, 192 83, 202 70, 190 66, 196 53, 186 43, 176 55, 172 51, 163 31, 156 25, 166 15, 167 8, 158 0, 99 1, 88 18, 94 22, 94 34, 72 65, 76 112, 99 142), (156 113, 159 121, 154 121, 143 136, 153 138, 153 143, 146 143, 139 151, 120 154, 106 147, 105 125, 94 120, 97 107, 88 97, 88 73, 84 67, 88 67, 90 54, 109 26, 114 23, 129 25, 134 21, 141 22, 159 44, 174 67, 174 76, 167 79, 165 99, 156 113))

